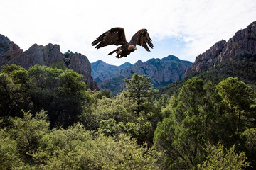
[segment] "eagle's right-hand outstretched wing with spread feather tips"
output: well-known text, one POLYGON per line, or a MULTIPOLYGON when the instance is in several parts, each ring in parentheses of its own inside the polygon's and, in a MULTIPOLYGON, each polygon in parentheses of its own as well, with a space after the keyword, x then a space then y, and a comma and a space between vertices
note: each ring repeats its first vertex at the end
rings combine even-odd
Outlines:
POLYGON ((151 42, 151 38, 149 37, 149 33, 146 29, 141 29, 137 33, 135 33, 129 43, 132 45, 140 45, 144 47, 147 51, 150 51, 149 47, 154 48, 154 45, 151 42), (147 45, 149 45, 149 47, 147 45))

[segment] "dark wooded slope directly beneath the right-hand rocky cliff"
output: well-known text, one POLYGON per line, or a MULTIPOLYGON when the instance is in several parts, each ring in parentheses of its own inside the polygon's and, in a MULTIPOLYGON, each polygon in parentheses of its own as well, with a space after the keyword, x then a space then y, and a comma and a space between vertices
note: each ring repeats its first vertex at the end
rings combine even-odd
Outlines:
POLYGON ((159 89, 160 94, 173 95, 181 89, 188 79, 192 77, 199 77, 204 81, 211 81, 214 85, 220 83, 223 79, 228 77, 238 77, 240 81, 244 81, 246 84, 255 85, 256 83, 256 62, 253 56, 240 56, 242 60, 233 60, 231 62, 223 62, 215 67, 210 67, 202 72, 196 72, 188 77, 176 81, 173 84, 169 84, 159 89), (251 60, 247 60, 250 58, 251 60))

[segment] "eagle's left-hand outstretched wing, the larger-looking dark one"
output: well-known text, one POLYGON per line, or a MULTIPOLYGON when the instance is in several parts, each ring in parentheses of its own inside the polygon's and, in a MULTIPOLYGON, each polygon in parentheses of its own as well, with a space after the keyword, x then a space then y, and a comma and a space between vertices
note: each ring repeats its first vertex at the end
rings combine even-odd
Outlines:
POLYGON ((92 46, 98 44, 95 48, 99 49, 107 45, 124 45, 126 42, 124 28, 116 27, 102 33, 100 37, 92 42, 92 46))

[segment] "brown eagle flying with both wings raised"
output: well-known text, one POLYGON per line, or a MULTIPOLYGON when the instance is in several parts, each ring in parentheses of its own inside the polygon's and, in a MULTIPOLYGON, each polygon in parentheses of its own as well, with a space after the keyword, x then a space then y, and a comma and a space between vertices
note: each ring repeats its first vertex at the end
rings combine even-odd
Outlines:
POLYGON ((130 42, 127 42, 124 34, 124 28, 119 27, 111 28, 100 35, 100 37, 92 42, 92 46, 94 45, 96 45, 95 48, 97 49, 107 45, 122 45, 108 54, 112 55, 114 52, 117 52, 117 58, 127 57, 131 52, 137 50, 136 45, 144 47, 147 51, 150 51, 149 47, 154 47, 146 29, 139 30, 132 36, 130 42), (147 45, 149 45, 149 47, 147 45))

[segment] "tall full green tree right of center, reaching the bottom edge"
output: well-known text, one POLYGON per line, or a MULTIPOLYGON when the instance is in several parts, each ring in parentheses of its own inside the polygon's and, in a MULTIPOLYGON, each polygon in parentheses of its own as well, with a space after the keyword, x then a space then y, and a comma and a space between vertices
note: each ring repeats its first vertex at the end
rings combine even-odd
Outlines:
POLYGON ((165 151, 166 169, 191 169, 201 161, 208 126, 205 96, 203 80, 193 77, 182 86, 176 101, 164 109, 169 117, 157 125, 154 145, 165 151))

